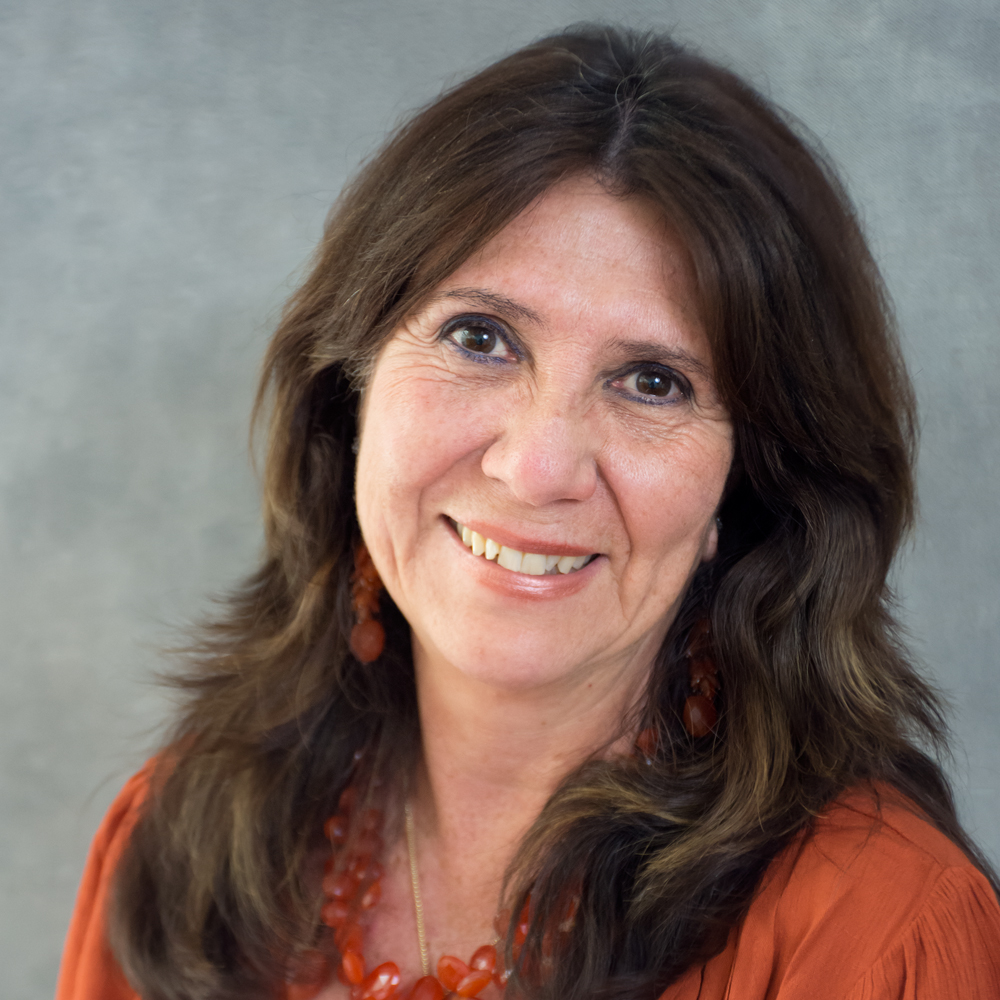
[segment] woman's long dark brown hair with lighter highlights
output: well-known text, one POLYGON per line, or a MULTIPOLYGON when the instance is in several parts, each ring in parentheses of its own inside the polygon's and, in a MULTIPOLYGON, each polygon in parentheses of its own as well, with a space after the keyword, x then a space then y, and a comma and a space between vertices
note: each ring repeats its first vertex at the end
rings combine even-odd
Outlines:
MULTIPOLYGON (((801 131, 801 130, 798 130, 801 131)), ((930 753, 938 704, 886 576, 913 514, 914 415, 881 280, 834 172, 732 73, 670 39, 582 27, 455 87, 345 190, 269 348, 263 565, 204 634, 119 868, 113 940, 148 1000, 273 993, 308 946, 308 860, 365 749, 392 781, 419 739, 406 623, 347 651, 358 394, 385 338, 561 178, 641 195, 685 241, 736 434, 718 558, 646 706, 652 766, 594 761, 511 869, 533 924, 512 988, 652 998, 718 950, 776 852, 847 786, 887 782, 986 869, 930 753), (720 724, 683 730, 681 644, 708 612, 720 724), (542 977, 544 928, 582 887, 542 977)))

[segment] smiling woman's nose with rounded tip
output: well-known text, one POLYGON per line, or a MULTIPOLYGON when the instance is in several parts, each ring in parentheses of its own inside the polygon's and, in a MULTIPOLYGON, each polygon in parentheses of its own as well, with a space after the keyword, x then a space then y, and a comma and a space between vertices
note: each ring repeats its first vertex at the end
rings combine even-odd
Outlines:
POLYGON ((594 434, 566 400, 535 398, 509 414, 483 455, 483 472, 522 503, 586 500, 597 488, 594 434))

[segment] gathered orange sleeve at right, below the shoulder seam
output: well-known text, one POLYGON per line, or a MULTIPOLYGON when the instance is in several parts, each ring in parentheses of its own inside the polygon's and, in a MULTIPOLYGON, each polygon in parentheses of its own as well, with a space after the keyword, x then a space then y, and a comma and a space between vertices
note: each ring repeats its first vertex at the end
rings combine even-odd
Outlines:
POLYGON ((941 997, 1000 998, 1000 904, 971 867, 941 874, 912 923, 847 1000, 941 997))

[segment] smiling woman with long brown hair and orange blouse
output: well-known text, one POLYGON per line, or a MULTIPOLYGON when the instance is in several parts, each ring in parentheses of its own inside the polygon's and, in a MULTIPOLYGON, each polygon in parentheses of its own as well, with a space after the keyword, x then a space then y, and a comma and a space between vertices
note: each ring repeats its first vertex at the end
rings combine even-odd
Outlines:
POLYGON ((461 84, 344 194, 261 400, 266 558, 61 1000, 1000 995, 888 610, 884 292, 746 84, 598 28, 461 84))

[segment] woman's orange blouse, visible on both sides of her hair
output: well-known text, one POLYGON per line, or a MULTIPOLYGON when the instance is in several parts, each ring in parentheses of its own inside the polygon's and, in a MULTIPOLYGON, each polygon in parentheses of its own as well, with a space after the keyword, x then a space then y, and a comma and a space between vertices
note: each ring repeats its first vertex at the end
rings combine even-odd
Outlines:
MULTIPOLYGON (((94 838, 56 1000, 138 1000, 106 941, 116 861, 149 784, 125 785, 94 838)), ((1000 905, 908 800, 841 796, 772 862, 726 948, 661 1000, 1000 1000, 1000 905)))

